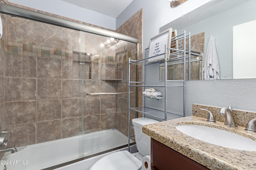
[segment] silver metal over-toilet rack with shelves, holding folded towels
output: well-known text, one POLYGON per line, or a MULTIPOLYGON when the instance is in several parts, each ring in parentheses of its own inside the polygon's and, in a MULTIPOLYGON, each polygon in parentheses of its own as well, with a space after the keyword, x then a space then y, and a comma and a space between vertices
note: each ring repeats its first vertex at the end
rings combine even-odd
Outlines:
MULTIPOLYGON (((157 87, 162 90, 163 94, 163 99, 161 101, 154 101, 146 98, 143 96, 142 100, 142 106, 143 107, 130 107, 130 95, 128 95, 128 100, 129 100, 129 105, 128 105, 128 117, 130 117, 131 111, 135 113, 142 113, 142 117, 155 117, 157 119, 160 119, 160 121, 166 121, 170 119, 177 119, 180 117, 185 117, 186 116, 186 111, 185 111, 185 104, 186 104, 186 98, 185 98, 185 87, 186 87, 186 63, 188 61, 188 68, 190 67, 190 62, 191 62, 191 55, 196 55, 196 56, 201 56, 198 54, 194 54, 191 52, 190 49, 190 33, 186 35, 186 31, 184 31, 182 34, 177 35, 175 37, 172 37, 172 41, 182 41, 182 45, 180 47, 182 48, 168 48, 167 45, 165 45, 165 50, 164 53, 148 57, 148 51, 145 49, 145 56, 143 59, 140 60, 131 60, 129 58, 129 65, 128 65, 128 70, 129 70, 129 76, 128 76, 128 92, 130 92, 131 88, 142 88, 142 91, 145 90, 145 88, 153 88, 157 87), (186 37, 188 37, 188 51, 186 51, 186 37), (185 50, 184 50, 185 49, 185 50), (168 58, 168 52, 169 50, 174 51, 175 54, 178 54, 180 56, 177 56, 175 58, 168 58), (177 53, 175 52, 177 51, 177 53), (182 55, 181 55, 182 54, 182 55), (152 61, 152 58, 158 57, 158 56, 164 56, 163 59, 164 61, 152 61), (188 59, 187 59, 188 58, 188 59), (179 64, 183 64, 183 71, 182 71, 182 78, 181 80, 167 80, 167 72, 168 72, 168 63, 170 64, 171 62, 175 60, 179 60, 179 64), (150 62, 148 62, 150 61, 150 62), (143 72, 141 75, 143 80, 141 82, 134 82, 131 81, 131 65, 136 64, 136 65, 142 65, 143 72), (156 76, 157 73, 159 75, 159 66, 160 64, 163 64, 164 66, 164 82, 159 82, 159 76, 156 76), (156 71, 157 70, 157 71, 156 71), (180 98, 176 98, 176 95, 172 96, 172 94, 168 94, 167 90, 170 88, 178 88, 180 92, 180 98), (167 102, 168 99, 168 102, 167 102), (170 100, 171 101, 170 101, 170 100), (177 105, 177 106, 176 106, 177 105), (174 106, 175 108, 172 108, 174 106), (179 108, 180 107, 180 108, 179 108), (168 111, 169 109, 169 111, 168 111), (176 110, 176 113, 171 113, 171 111, 176 110)), ((176 46, 178 47, 178 46, 176 46)), ((170 54, 170 55, 173 55, 170 54)), ((138 73, 137 73, 138 74, 138 73)), ((188 70, 188 77, 190 77, 190 69, 188 70)), ((139 90, 140 90, 139 89, 139 90)), ((176 89, 175 89, 176 90, 176 89)), ((169 90, 171 91, 171 90, 169 90)), ((169 92, 170 93, 170 92, 169 92)), ((130 140, 130 120, 128 120, 128 140, 130 140)), ((129 142, 128 142, 129 143, 129 142)), ((129 144, 128 144, 129 147, 129 144)), ((130 149, 129 149, 130 150, 130 149)))

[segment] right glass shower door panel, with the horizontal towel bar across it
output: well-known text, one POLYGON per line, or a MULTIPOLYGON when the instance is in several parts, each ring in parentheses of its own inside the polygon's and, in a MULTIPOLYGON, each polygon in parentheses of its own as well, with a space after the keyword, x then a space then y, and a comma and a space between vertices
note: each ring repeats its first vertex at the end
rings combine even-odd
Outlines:
POLYGON ((128 58, 136 59, 137 45, 87 32, 81 42, 86 55, 80 54, 85 94, 80 156, 90 156, 128 144, 128 58))

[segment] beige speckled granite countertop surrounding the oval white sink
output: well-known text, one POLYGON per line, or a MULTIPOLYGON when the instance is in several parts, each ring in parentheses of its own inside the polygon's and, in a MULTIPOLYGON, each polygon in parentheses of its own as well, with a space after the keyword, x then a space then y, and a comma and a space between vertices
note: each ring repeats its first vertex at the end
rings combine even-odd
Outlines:
POLYGON ((211 170, 256 169, 256 151, 229 149, 194 139, 175 128, 182 124, 215 127, 256 141, 256 133, 246 132, 242 126, 228 127, 221 121, 208 123, 205 118, 194 115, 144 125, 142 132, 211 170))

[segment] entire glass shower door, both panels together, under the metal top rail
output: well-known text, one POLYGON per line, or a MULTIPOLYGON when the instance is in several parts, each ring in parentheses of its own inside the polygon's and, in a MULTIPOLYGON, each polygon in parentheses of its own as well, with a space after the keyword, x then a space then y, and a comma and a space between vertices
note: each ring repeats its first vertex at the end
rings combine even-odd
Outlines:
MULTIPOLYGON (((18 149, 5 158, 29 161, 13 169, 43 169, 127 145, 128 58, 136 59, 137 44, 1 18, 0 126, 12 131, 8 147, 18 149)), ((136 105, 136 94, 132 100, 136 105)))

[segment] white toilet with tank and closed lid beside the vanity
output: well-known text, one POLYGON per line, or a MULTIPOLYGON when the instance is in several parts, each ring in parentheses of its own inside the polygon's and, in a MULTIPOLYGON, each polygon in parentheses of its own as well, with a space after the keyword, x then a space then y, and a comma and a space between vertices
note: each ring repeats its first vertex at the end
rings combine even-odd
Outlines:
POLYGON ((108 154, 95 162, 90 170, 140 170, 142 158, 150 155, 150 137, 142 133, 142 126, 157 122, 146 117, 132 119, 138 152, 131 154, 122 150, 108 154))

